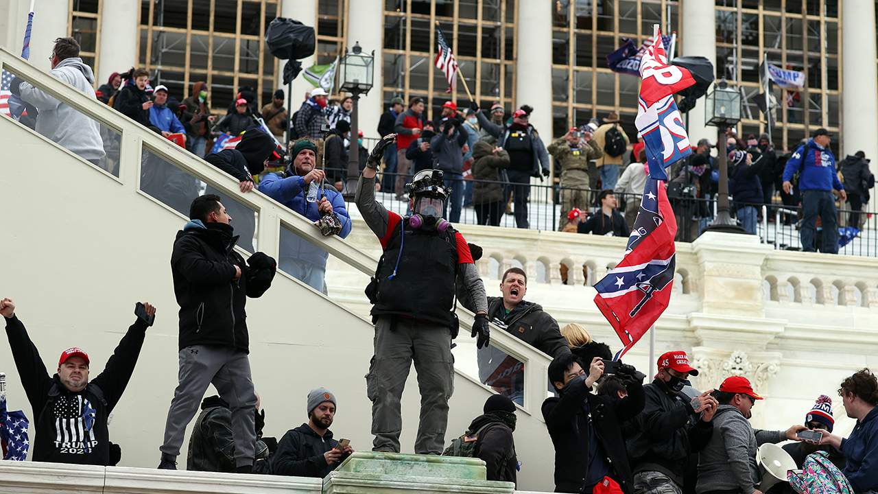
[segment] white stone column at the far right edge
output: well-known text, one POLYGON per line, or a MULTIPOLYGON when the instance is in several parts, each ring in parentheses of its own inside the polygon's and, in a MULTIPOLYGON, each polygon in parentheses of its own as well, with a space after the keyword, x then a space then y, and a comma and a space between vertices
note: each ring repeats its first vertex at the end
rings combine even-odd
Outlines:
POLYGON ((872 158, 872 173, 878 173, 878 69, 875 59, 874 3, 845 0, 842 3, 841 47, 844 73, 841 92, 841 156, 858 150, 872 158))

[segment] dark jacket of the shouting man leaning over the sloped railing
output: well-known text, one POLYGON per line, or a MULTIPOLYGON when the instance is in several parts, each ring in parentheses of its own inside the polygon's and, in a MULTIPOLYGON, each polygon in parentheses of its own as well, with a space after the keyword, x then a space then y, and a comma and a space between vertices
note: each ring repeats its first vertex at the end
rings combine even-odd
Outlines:
POLYGON ((570 352, 567 340, 558 329, 558 321, 543 311, 543 306, 538 303, 522 301, 505 314, 503 297, 488 297, 488 319, 552 358, 570 352))

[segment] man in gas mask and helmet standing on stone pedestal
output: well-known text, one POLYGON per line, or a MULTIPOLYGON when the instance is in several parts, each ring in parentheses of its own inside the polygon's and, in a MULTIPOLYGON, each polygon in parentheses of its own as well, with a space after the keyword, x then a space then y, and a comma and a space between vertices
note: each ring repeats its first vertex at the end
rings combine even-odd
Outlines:
POLYGON ((406 185, 411 216, 388 212, 375 200, 375 174, 384 150, 396 141, 385 135, 372 149, 356 188, 356 207, 378 236, 384 254, 366 295, 372 303, 375 356, 366 375, 372 402, 373 451, 399 453, 399 401, 414 360, 421 389, 421 423, 416 454, 442 454, 453 390, 451 340, 457 336, 457 273, 476 310, 472 337, 488 344, 485 286, 464 236, 443 220, 449 191, 442 171, 416 173, 406 185))

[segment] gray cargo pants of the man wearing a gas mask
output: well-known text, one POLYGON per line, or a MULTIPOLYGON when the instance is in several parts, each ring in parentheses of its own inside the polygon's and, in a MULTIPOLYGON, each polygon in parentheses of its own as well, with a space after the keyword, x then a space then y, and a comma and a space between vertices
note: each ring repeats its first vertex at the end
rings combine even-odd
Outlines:
POLYGON ((375 436, 372 451, 399 453, 399 400, 413 360, 421 389, 421 421, 414 453, 442 454, 445 448, 448 400, 454 392, 450 329, 405 317, 378 316, 375 356, 366 374, 375 436))

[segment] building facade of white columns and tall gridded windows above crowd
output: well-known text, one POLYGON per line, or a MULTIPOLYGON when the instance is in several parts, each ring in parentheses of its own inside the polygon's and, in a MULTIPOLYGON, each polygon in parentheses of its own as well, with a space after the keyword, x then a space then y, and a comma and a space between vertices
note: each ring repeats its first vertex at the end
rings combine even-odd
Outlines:
MULTIPOLYGON (((0 0, 0 40, 18 49, 26 0, 0 0)), ((857 149, 878 156, 874 0, 41 0, 34 18, 32 62, 47 69, 54 37, 80 40, 83 58, 98 84, 113 71, 149 69, 157 83, 179 98, 205 81, 212 107, 230 104, 250 86, 262 103, 281 84, 283 61, 266 49, 272 18, 313 25, 315 54, 303 61, 333 62, 358 41, 374 50, 374 88, 361 100, 360 127, 377 134, 390 99, 425 98, 429 116, 444 101, 481 105, 500 101, 507 111, 528 104, 532 123, 548 135, 617 112, 634 137, 637 76, 607 67, 607 55, 623 43, 637 46, 652 25, 676 33, 674 53, 714 62, 742 94, 744 120, 738 134, 767 132, 753 99, 762 91, 759 63, 767 60, 807 75, 802 91, 774 88, 777 149, 795 148, 817 127, 838 134, 838 154, 857 149), (449 91, 435 68, 435 31, 442 29, 460 74, 449 91), (850 55, 843 56, 844 47, 850 55), (872 63, 868 63, 870 61, 872 63), (550 80, 547 80, 550 79, 550 80), (839 147, 840 146, 840 147, 839 147)), ((310 84, 293 84, 293 106, 310 84)), ((295 108, 294 108, 295 109, 295 108)), ((703 126, 703 106, 687 116, 690 139, 716 138, 703 126)), ((878 162, 876 162, 878 163, 878 162)))

